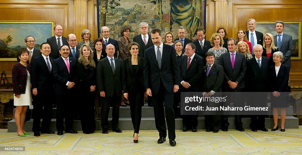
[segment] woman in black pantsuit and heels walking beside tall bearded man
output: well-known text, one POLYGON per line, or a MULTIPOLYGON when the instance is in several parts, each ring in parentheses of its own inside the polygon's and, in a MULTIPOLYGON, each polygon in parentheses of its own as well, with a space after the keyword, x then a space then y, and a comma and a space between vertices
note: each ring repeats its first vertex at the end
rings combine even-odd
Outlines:
POLYGON ((128 46, 128 50, 130 51, 131 56, 123 60, 123 88, 124 97, 128 99, 130 103, 131 119, 134 128, 133 142, 137 143, 140 121, 142 119, 144 93, 146 93, 143 80, 144 59, 138 57, 138 43, 131 42, 128 46))

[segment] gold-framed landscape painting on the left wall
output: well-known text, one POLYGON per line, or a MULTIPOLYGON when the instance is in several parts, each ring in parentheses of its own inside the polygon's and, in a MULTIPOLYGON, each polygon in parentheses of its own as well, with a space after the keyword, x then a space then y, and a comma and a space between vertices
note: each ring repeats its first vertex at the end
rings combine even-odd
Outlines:
POLYGON ((17 50, 26 47, 24 38, 33 36, 34 48, 54 36, 54 21, 0 21, 0 61, 17 61, 17 50))

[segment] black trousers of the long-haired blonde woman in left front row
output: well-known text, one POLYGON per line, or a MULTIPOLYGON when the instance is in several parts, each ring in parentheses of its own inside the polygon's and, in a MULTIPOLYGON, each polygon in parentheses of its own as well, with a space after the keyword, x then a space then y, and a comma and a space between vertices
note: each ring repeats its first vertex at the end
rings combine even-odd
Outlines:
POLYGON ((95 116, 94 116, 94 99, 95 92, 82 93, 81 97, 82 104, 80 118, 83 132, 93 133, 95 131, 95 116))

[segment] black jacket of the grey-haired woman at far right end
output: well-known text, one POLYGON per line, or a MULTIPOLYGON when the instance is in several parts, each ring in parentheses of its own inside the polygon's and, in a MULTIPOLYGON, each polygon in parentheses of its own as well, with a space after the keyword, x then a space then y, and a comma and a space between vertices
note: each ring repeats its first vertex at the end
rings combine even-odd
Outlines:
POLYGON ((270 67, 269 71, 269 81, 270 81, 270 92, 289 92, 288 90, 288 80, 289 80, 289 70, 287 65, 281 64, 278 76, 276 75, 275 65, 270 67))

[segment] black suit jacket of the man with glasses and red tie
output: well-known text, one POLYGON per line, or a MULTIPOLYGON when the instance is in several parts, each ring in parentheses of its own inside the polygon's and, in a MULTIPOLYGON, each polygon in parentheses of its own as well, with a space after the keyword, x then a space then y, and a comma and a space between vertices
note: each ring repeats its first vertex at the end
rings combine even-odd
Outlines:
POLYGON ((202 75, 202 69, 204 66, 204 58, 195 53, 191 63, 187 69, 188 65, 188 56, 184 55, 180 58, 179 61, 179 71, 180 71, 180 82, 188 82, 191 86, 186 89, 183 86, 182 91, 186 92, 198 92, 200 91, 200 81, 202 75))

